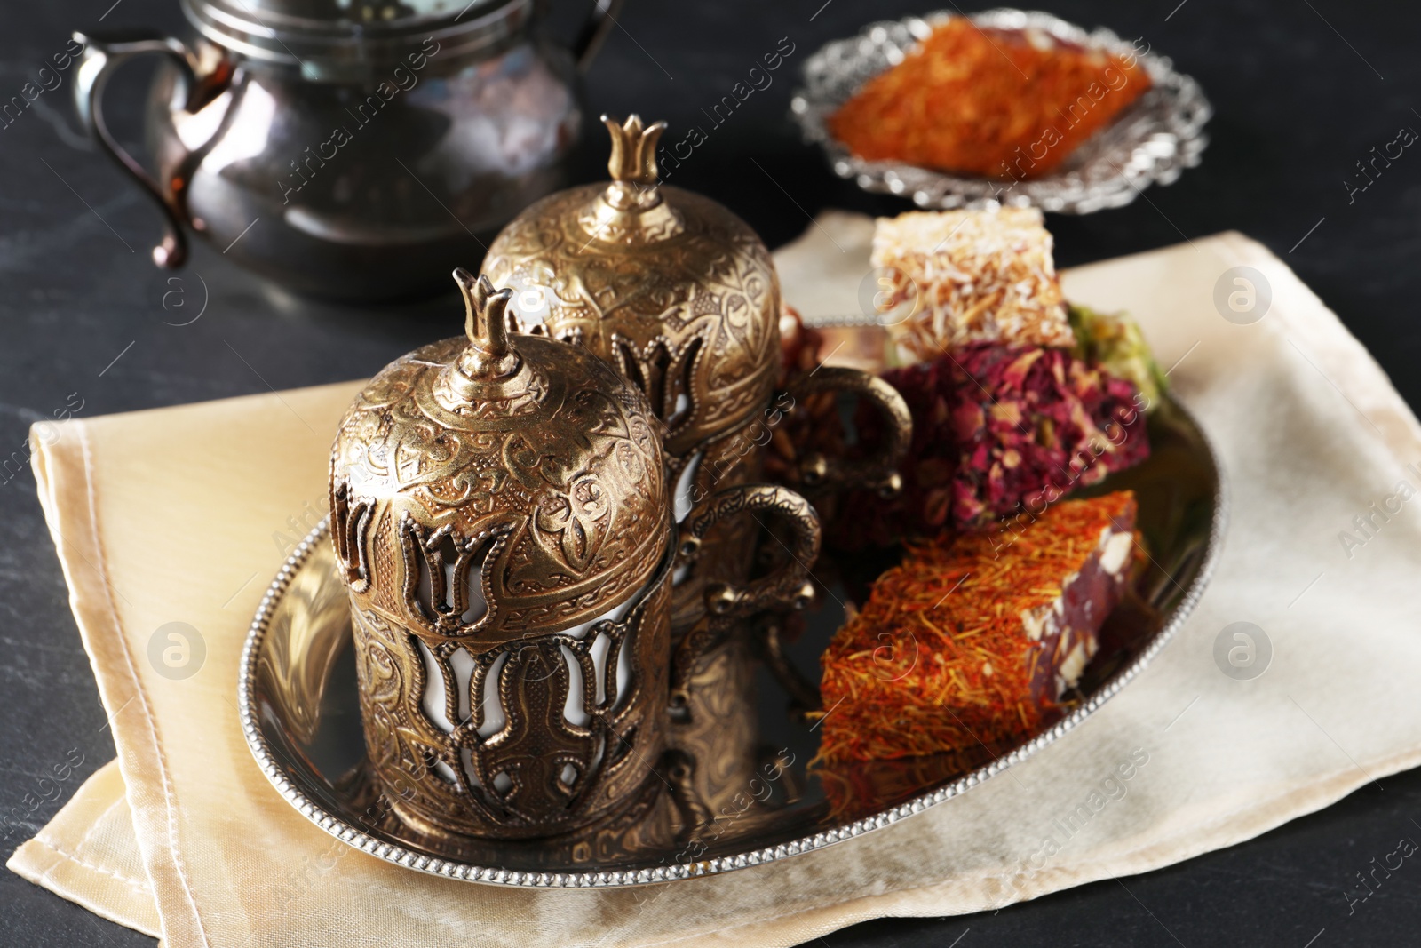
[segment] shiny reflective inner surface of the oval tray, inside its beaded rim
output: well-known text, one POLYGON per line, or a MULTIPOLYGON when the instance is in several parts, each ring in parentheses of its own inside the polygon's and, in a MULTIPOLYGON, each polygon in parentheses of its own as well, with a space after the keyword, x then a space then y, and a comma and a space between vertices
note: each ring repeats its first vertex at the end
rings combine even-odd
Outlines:
MULTIPOLYGON (((1098 651, 1077 686, 1042 718, 1033 736, 1128 669, 1169 625, 1199 576, 1219 505, 1212 458, 1192 419, 1168 402, 1150 418, 1150 441, 1147 462, 1077 495, 1134 492, 1148 564, 1104 623, 1098 651)), ((692 688, 698 704, 689 723, 674 726, 671 750, 644 793, 614 819, 563 837, 433 839, 401 824, 381 800, 362 763, 355 675, 345 648, 348 604, 324 542, 276 608, 256 664, 253 704, 269 750, 313 802, 350 827, 432 857, 509 871, 576 873, 695 864, 760 850, 946 787, 1023 743, 809 766, 818 753, 824 716, 807 713, 816 711, 818 657, 844 623, 845 604, 863 601, 864 571, 881 571, 894 556, 860 553, 817 564, 816 574, 834 578, 797 635, 784 634, 789 627, 777 617, 756 620, 779 623, 777 635, 755 634, 749 624, 729 632, 695 672, 718 688, 692 688), (789 669, 796 669, 797 685, 789 669), (780 681, 790 681, 790 688, 780 681)))

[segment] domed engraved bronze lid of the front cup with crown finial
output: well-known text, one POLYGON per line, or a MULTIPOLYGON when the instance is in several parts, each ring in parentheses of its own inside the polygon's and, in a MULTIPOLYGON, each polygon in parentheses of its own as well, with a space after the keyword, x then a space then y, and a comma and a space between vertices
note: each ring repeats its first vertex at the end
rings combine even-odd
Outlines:
POLYGON ((584 350, 512 337, 507 290, 455 280, 468 338, 391 362, 341 421, 331 533, 364 607, 492 648, 641 590, 669 505, 642 395, 584 350))

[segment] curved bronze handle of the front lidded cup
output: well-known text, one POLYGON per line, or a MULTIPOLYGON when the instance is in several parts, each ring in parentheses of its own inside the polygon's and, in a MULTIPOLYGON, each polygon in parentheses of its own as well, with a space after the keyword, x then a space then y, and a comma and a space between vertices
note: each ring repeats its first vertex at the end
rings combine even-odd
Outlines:
MULTIPOLYGON (((789 488, 764 483, 737 485, 713 493, 682 522, 676 566, 695 560, 701 540, 726 517, 767 513, 790 526, 784 543, 790 559, 783 567, 745 584, 706 586, 706 614, 686 631, 671 658, 671 709, 685 715, 691 706, 691 678, 701 655, 715 645, 735 620, 766 610, 804 608, 814 597, 810 566, 818 559, 818 515, 809 500, 789 488)), ((756 516, 759 519, 759 516, 756 516)))

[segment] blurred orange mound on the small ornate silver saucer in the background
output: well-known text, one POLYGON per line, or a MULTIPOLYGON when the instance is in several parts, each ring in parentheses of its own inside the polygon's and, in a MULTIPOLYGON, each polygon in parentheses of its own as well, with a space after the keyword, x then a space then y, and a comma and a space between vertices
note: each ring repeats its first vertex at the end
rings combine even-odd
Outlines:
POLYGON ((828 118, 867 161, 1022 181, 1056 169, 1150 88, 1134 54, 952 17, 828 118))

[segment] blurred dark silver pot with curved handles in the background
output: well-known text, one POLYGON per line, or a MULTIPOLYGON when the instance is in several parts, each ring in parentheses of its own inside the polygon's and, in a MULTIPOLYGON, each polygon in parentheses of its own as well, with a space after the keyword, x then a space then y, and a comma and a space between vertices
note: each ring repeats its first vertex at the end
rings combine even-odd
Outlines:
POLYGON ((91 37, 75 101, 166 220, 153 260, 180 267, 185 227, 313 296, 441 293, 449 270, 564 183, 581 128, 577 72, 621 0, 571 50, 534 36, 540 0, 180 0, 199 38, 91 37), (145 119, 149 173, 104 121, 104 87, 165 60, 145 119))

